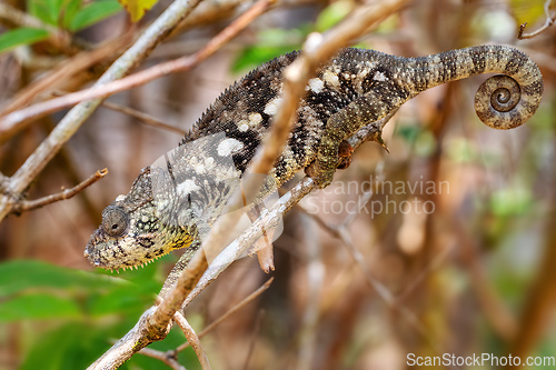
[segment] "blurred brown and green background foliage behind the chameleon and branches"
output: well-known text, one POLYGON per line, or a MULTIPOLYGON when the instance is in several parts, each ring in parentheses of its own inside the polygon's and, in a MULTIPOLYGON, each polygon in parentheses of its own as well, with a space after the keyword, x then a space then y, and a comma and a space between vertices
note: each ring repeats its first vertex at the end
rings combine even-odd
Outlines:
MULTIPOLYGON (((161 0, 132 26, 111 0, 2 1, 42 24, 26 27, 0 11, 3 112, 38 81, 63 69, 71 73, 58 74, 24 104, 85 88, 126 44, 102 49, 107 42, 140 32, 169 4, 161 0), (89 66, 79 57, 91 50, 105 52, 89 66)), ((248 4, 206 0, 146 66, 198 50, 248 4)), ((193 71, 109 101, 188 130, 242 73, 299 49, 309 32, 329 29, 357 4, 278 2, 193 71)), ((311 217, 292 211, 275 242, 270 289, 202 339, 215 369, 400 369, 408 353, 556 357, 556 31, 518 41, 517 28, 525 21, 526 33, 544 23, 544 1, 416 0, 358 40, 358 47, 406 57, 515 44, 543 71, 543 104, 530 122, 509 132, 490 130, 475 117, 473 96, 481 78, 433 89, 404 106, 385 130, 389 154, 374 143, 364 146, 335 184, 302 202, 309 213, 338 224, 353 213, 345 206, 366 190, 346 184, 374 182, 368 207, 347 224, 366 268, 311 217), (395 189, 408 187, 393 192, 388 182, 395 189), (430 186, 434 190, 426 191, 430 186), (416 206, 401 209, 404 201, 416 206), (426 204, 434 211, 426 212, 426 204), (385 300, 369 281, 393 299, 385 300)), ((11 176, 62 114, 3 140, 0 171, 11 176)), ((179 140, 175 132, 100 109, 27 196, 72 187, 105 167, 110 174, 70 200, 0 223, 0 369, 86 368, 152 304, 176 256, 116 274, 93 270, 82 251, 102 209, 179 140)), ((267 279, 255 259, 242 259, 197 298, 186 317, 202 330, 267 279)), ((152 348, 171 350, 183 341, 173 329, 152 348)), ((179 361, 187 369, 199 367, 190 349, 180 352, 179 361)), ((141 354, 123 366, 163 367, 141 354)))

